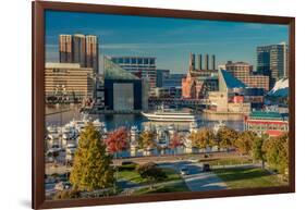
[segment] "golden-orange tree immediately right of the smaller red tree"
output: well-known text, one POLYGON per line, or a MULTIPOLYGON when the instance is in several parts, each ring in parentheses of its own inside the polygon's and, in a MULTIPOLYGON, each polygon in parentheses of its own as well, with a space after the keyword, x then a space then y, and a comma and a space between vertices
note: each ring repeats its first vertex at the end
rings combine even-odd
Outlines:
POLYGON ((211 129, 201 128, 198 132, 193 132, 189 136, 194 147, 205 149, 213 145, 215 135, 211 129))

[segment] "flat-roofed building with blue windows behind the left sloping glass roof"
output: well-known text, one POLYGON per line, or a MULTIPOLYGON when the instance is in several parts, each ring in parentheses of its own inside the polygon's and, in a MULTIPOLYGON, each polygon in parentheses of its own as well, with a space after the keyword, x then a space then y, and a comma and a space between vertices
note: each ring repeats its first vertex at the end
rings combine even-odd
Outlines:
POLYGON ((154 57, 109 57, 109 59, 138 78, 148 81, 150 88, 156 87, 156 58, 154 57))

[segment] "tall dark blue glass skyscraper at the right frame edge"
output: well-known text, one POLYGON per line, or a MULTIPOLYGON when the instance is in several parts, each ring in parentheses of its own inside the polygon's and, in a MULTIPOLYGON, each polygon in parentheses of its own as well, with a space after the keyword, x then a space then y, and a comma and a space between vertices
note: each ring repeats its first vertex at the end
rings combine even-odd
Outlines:
POLYGON ((273 87, 277 81, 287 77, 287 45, 257 47, 257 72, 270 76, 270 87, 273 87))

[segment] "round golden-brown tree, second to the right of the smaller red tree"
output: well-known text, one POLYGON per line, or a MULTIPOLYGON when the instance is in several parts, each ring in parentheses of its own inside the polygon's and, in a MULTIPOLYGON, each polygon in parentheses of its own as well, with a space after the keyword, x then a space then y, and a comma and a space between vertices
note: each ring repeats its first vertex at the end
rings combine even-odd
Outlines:
POLYGON ((237 139, 238 133, 230 127, 221 127, 216 135, 216 140, 219 148, 229 149, 234 146, 234 141, 237 139))

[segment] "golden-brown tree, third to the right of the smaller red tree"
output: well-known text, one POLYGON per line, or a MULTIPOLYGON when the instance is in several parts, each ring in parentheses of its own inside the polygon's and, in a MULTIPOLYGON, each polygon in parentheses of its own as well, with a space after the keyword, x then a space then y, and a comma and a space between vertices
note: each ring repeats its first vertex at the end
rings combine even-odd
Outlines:
POLYGON ((253 148, 253 141, 256 138, 256 133, 250 131, 242 132, 237 139, 234 141, 234 146, 242 155, 250 155, 253 148))

